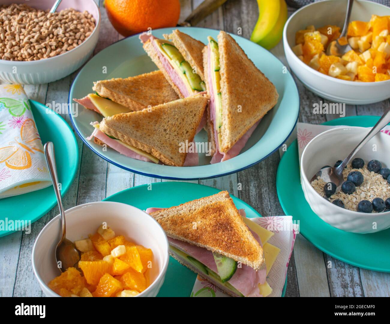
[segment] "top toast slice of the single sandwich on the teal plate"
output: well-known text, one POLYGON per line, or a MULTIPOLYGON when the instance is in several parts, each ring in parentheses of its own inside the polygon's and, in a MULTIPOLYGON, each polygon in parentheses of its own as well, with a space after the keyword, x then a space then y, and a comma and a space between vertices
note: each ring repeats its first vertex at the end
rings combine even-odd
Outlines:
POLYGON ((150 215, 171 238, 223 254, 255 270, 264 267, 264 251, 227 191, 150 215))

